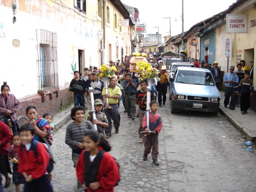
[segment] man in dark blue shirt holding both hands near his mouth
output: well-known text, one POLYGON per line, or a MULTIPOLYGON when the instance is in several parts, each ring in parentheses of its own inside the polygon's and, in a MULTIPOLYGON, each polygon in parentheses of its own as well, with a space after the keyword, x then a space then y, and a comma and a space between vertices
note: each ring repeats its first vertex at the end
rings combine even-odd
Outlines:
POLYGON ((125 74, 125 80, 123 82, 125 93, 125 107, 128 118, 135 119, 136 107, 135 107, 135 93, 136 93, 136 81, 131 78, 131 74, 125 74))

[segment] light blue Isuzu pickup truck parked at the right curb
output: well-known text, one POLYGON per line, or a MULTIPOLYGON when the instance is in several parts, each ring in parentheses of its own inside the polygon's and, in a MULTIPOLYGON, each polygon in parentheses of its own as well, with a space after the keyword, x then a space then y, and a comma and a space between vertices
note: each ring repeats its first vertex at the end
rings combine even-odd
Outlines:
POLYGON ((217 115, 220 92, 208 69, 178 67, 169 79, 171 113, 178 109, 212 112, 217 115))

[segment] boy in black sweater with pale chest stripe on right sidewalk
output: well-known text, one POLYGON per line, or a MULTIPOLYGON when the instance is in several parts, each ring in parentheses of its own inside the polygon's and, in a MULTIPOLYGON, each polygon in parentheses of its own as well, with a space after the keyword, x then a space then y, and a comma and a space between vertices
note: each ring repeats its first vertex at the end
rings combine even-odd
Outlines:
POLYGON ((245 71, 244 73, 244 79, 240 81, 240 84, 238 86, 238 92, 241 92, 241 113, 242 115, 247 113, 247 110, 250 108, 251 105, 251 96, 253 92, 253 82, 252 79, 249 79, 250 72, 245 71))

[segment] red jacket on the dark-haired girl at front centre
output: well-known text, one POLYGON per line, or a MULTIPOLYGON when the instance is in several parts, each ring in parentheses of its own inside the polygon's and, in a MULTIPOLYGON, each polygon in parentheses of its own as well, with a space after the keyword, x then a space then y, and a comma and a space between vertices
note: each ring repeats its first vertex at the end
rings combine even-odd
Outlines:
MULTIPOLYGON (((99 150, 102 150, 100 146, 99 150)), ((76 175, 81 184, 84 183, 84 151, 82 151, 76 164, 76 175)), ((96 176, 96 181, 100 182, 101 187, 93 190, 93 192, 112 192, 119 179, 120 174, 115 159, 109 153, 104 153, 96 176)), ((87 192, 92 192, 92 189, 88 188, 87 192)))

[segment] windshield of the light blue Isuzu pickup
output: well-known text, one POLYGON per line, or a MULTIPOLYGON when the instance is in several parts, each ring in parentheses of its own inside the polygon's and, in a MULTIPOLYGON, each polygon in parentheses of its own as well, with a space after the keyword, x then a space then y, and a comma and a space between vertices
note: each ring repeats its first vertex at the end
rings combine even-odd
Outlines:
POLYGON ((176 83, 215 86, 211 72, 179 70, 176 83))

